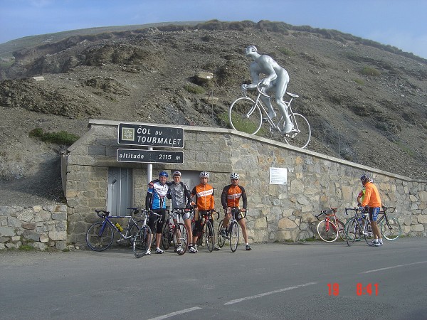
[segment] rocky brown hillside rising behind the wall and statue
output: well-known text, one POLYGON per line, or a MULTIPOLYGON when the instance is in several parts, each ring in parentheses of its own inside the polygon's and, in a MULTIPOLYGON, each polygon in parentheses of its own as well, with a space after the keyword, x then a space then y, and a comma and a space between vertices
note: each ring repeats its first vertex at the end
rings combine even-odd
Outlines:
POLYGON ((64 146, 28 137, 37 127, 78 135, 88 119, 227 127, 229 105, 250 82, 249 44, 288 70, 288 91, 300 95, 294 108, 312 127, 307 149, 426 178, 427 60, 339 31, 209 21, 82 34, 4 59, 0 193, 9 196, 0 205, 60 199, 64 146), (12 191, 21 200, 7 203, 12 191))

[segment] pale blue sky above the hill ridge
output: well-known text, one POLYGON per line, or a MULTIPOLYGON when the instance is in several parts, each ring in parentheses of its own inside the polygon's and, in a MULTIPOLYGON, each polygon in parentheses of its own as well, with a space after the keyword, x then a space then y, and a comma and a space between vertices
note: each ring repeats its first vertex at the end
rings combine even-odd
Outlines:
POLYGON ((260 20, 334 29, 427 58, 426 0, 0 0, 0 43, 80 28, 260 20))

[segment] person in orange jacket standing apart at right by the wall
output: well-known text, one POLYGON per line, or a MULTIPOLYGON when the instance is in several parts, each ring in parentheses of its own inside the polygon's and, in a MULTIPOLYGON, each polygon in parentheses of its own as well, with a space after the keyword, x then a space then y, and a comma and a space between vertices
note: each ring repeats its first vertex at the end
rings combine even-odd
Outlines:
POLYGON ((372 233, 374 233, 374 240, 372 240, 371 245, 378 247, 383 244, 381 233, 378 225, 376 225, 376 219, 378 217, 379 209, 381 208, 381 198, 379 197, 378 189, 374 183, 371 182, 369 176, 364 174, 360 177, 360 181, 362 181, 362 184, 365 187, 362 207, 369 206, 369 220, 371 220, 372 233))

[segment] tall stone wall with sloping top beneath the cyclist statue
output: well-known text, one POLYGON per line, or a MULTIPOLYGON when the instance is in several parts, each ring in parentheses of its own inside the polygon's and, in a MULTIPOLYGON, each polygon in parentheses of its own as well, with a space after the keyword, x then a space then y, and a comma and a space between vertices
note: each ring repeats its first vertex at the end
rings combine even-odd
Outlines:
MULTIPOLYGON (((68 242, 82 245, 85 230, 95 220, 95 208, 106 208, 110 166, 133 168, 134 203, 143 204, 147 164, 116 160, 120 122, 92 120, 90 130, 68 149, 66 191, 68 242)), ((169 126, 173 127, 173 126, 169 126)), ((129 146, 129 149, 137 149, 129 146)), ((248 234, 251 242, 298 240, 312 235, 315 215, 356 205, 362 187, 359 177, 369 174, 387 206, 396 206, 404 235, 427 235, 427 184, 350 161, 302 150, 231 129, 184 127, 184 164, 153 164, 159 170, 209 171, 216 192, 216 208, 230 172, 238 172, 248 193, 248 234), (270 184, 270 168, 284 168, 287 183, 270 184)), ((191 188, 193 186, 190 186, 191 188)))

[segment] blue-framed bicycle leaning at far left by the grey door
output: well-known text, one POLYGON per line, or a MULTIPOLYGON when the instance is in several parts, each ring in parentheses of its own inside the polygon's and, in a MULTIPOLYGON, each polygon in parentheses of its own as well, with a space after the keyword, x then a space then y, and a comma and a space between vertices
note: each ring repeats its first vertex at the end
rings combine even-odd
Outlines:
POLYGON ((139 226, 142 221, 137 221, 135 215, 139 213, 138 208, 127 208, 131 210, 130 215, 110 215, 109 211, 106 210, 95 210, 98 217, 102 219, 97 223, 90 225, 86 232, 86 243, 88 247, 94 251, 103 251, 112 245, 115 237, 115 233, 120 235, 120 239, 117 241, 127 241, 130 244, 133 242, 133 238, 138 233, 139 226), (119 223, 113 223, 110 219, 112 218, 129 218, 125 232, 123 227, 119 223))

